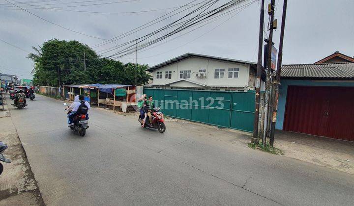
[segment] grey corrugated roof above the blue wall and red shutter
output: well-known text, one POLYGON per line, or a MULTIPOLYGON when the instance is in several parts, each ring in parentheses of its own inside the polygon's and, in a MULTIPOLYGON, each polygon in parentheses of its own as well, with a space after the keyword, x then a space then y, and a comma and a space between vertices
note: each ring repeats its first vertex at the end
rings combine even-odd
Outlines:
POLYGON ((354 62, 328 64, 289 64, 283 65, 282 78, 354 78, 354 62))

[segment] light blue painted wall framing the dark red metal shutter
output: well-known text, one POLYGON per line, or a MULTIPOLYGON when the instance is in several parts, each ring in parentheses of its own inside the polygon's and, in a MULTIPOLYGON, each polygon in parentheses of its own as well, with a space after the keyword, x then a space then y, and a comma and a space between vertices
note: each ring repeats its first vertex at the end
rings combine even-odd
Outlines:
POLYGON ((279 88, 279 101, 276 129, 283 129, 284 115, 285 115, 285 103, 287 97, 287 91, 289 85, 296 86, 354 86, 354 81, 321 81, 321 80, 295 80, 295 79, 283 79, 280 80, 279 88))

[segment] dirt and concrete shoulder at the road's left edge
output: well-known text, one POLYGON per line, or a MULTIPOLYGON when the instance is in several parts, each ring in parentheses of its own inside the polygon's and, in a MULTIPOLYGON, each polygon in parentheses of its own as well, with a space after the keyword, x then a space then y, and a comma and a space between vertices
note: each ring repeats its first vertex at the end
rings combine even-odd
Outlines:
MULTIPOLYGON (((5 101, 6 103, 6 101, 5 101)), ((0 141, 8 145, 4 155, 11 163, 3 163, 3 173, 0 175, 0 206, 44 206, 37 182, 11 120, 11 113, 4 105, 0 110, 0 141)))

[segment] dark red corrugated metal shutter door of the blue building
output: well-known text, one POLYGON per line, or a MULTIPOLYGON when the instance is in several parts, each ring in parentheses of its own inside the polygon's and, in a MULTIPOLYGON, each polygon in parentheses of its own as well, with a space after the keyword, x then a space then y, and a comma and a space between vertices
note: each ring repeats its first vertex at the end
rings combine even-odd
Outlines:
POLYGON ((354 141, 354 88, 289 86, 284 130, 354 141))

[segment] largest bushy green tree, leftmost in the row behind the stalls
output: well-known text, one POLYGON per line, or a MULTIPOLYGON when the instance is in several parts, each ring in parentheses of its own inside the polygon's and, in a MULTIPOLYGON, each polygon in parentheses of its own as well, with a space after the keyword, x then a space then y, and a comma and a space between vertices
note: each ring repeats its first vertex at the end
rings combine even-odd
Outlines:
POLYGON ((34 61, 34 84, 59 86, 59 82, 76 84, 96 80, 94 75, 89 75, 89 70, 100 68, 101 61, 89 46, 78 41, 53 39, 44 42, 39 49, 32 48, 36 53, 30 53, 28 58, 34 61), (84 52, 87 71, 84 71, 84 52))

